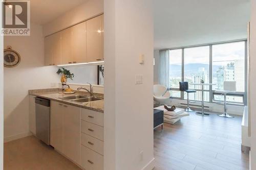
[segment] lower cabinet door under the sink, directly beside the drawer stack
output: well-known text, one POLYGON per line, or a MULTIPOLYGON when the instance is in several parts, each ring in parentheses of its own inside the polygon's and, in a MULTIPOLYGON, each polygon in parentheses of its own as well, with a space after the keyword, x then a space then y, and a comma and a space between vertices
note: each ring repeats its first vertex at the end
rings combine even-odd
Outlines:
POLYGON ((63 104, 63 154, 80 164, 80 108, 63 104))

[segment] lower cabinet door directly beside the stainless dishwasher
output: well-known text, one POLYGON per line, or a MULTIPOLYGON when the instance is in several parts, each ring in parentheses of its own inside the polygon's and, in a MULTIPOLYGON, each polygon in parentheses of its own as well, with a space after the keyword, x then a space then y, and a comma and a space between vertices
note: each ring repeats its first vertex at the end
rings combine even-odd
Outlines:
POLYGON ((51 101, 50 144, 63 153, 63 104, 51 101))

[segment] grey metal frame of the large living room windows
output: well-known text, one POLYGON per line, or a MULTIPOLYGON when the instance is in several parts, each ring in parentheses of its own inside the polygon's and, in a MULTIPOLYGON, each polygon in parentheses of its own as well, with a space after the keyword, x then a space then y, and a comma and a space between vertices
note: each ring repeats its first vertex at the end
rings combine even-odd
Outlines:
MULTIPOLYGON (((231 95, 238 95, 243 97, 243 103, 240 102, 230 102, 230 105, 236 105, 236 106, 245 106, 247 105, 247 39, 239 39, 239 40, 232 40, 232 41, 222 41, 222 42, 215 42, 215 43, 207 43, 207 44, 199 44, 199 45, 190 45, 190 46, 182 46, 182 47, 175 47, 175 48, 167 48, 163 50, 177 50, 181 49, 182 50, 182 66, 181 66, 181 81, 184 81, 184 49, 185 48, 191 48, 191 47, 199 47, 199 46, 209 46, 209 83, 212 83, 212 45, 217 45, 217 44, 226 44, 226 43, 234 43, 234 42, 244 42, 245 44, 245 91, 244 92, 235 92, 232 93, 231 95)), ((174 90, 174 91, 179 91, 179 88, 169 88, 169 90, 174 90)), ((201 91, 197 90, 196 91, 201 91)), ((215 90, 212 90, 212 86, 209 86, 209 90, 204 90, 204 91, 209 91, 209 102, 206 103, 219 103, 222 101, 214 101, 214 94, 216 94, 215 90)), ((185 100, 184 99, 184 92, 181 91, 181 97, 180 98, 174 98, 170 97, 170 99, 178 99, 178 100, 185 100)), ((191 100, 193 101, 193 100, 191 100)), ((196 101, 199 102, 199 101, 196 101)))

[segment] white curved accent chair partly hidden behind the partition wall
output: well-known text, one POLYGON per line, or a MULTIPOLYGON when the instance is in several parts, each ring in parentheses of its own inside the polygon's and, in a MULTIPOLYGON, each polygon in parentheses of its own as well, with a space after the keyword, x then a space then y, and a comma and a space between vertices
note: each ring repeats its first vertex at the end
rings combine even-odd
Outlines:
POLYGON ((166 102, 170 98, 170 92, 163 85, 154 85, 154 101, 161 103, 166 102))

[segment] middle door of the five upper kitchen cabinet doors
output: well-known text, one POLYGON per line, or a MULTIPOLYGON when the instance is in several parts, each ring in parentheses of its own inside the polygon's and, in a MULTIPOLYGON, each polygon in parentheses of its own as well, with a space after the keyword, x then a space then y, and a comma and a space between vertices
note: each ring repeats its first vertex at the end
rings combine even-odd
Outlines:
POLYGON ((72 64, 72 28, 61 33, 61 64, 72 64))

